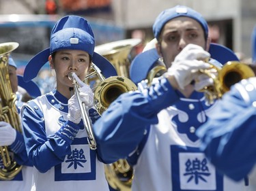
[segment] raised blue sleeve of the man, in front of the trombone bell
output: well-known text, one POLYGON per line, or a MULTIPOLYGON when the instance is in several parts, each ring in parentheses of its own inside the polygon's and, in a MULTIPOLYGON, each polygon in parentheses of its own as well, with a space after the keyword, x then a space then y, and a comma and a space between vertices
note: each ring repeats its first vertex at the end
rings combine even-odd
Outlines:
POLYGON ((119 96, 93 126, 100 159, 112 163, 126 158, 142 141, 145 128, 158 123, 158 112, 179 99, 165 78, 142 92, 119 96))

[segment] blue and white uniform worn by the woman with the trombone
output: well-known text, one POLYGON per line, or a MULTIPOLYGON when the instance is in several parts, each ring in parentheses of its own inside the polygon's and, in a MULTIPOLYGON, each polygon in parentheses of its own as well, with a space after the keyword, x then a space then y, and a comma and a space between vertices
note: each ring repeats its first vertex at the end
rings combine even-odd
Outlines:
POLYGON ((90 150, 83 124, 67 122, 66 97, 55 90, 22 111, 27 154, 34 165, 31 190, 109 190, 104 164, 97 150, 90 150))

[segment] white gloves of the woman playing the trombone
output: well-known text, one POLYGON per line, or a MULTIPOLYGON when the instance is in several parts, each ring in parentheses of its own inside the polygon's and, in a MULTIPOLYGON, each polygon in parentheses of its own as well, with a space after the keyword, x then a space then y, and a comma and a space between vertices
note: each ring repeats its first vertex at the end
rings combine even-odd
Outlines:
MULTIPOLYGON (((83 87, 79 88, 79 94, 81 101, 85 103, 87 110, 94 105, 94 93, 87 84, 83 84, 83 87)), ((68 120, 76 124, 79 124, 81 121, 81 110, 76 94, 68 100, 68 120)))

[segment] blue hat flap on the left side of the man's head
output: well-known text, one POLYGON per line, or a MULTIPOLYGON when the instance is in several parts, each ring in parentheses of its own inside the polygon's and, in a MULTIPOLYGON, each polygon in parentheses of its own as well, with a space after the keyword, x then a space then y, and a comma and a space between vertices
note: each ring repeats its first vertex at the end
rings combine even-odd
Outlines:
POLYGON ((138 84, 147 78, 147 74, 154 67, 156 61, 160 58, 156 48, 141 52, 132 60, 130 65, 130 80, 138 84))

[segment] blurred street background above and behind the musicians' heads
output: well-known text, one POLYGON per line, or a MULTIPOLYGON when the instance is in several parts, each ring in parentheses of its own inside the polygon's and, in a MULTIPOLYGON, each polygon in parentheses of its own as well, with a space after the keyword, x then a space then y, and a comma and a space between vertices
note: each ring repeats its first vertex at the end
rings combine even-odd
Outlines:
POLYGON ((153 39, 156 16, 177 4, 200 12, 209 23, 212 42, 227 46, 250 62, 255 0, 0 0, 0 43, 20 44, 12 56, 22 75, 27 61, 48 48, 55 22, 62 16, 75 14, 84 16, 91 24, 96 46, 141 39, 141 44, 132 50, 134 56, 153 39))

